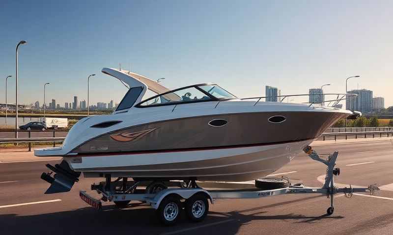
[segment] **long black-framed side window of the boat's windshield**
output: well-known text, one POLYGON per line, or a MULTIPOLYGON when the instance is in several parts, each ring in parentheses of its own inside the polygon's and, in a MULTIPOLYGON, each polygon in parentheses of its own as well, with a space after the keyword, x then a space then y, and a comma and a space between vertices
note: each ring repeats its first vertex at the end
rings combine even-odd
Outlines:
POLYGON ((170 103, 182 103, 182 102, 192 102, 192 101, 202 101, 210 100, 211 98, 198 90, 195 87, 189 87, 174 92, 169 92, 154 96, 143 103, 140 106, 148 105, 160 105, 160 104, 170 104, 170 103))

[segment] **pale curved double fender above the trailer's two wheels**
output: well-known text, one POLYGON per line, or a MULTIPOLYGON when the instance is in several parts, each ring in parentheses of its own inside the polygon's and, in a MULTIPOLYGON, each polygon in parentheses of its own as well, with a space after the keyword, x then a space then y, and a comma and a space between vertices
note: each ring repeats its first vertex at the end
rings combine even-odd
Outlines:
POLYGON ((206 197, 208 199, 210 199, 210 203, 214 204, 213 197, 205 189, 202 189, 202 188, 167 188, 167 189, 164 189, 164 190, 160 191, 159 193, 157 193, 157 195, 154 196, 154 198, 150 201, 150 205, 152 208, 157 210, 158 207, 160 206, 161 201, 169 194, 175 194, 175 195, 180 196, 183 199, 189 199, 190 197, 192 197, 196 193, 206 194, 206 197))

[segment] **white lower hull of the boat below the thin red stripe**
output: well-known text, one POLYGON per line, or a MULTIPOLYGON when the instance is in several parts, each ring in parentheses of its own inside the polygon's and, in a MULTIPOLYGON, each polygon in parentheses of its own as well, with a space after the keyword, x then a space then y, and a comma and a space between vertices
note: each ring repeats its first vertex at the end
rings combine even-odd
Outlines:
POLYGON ((144 154, 64 158, 85 177, 193 178, 203 181, 246 181, 264 177, 289 163, 308 141, 144 154))

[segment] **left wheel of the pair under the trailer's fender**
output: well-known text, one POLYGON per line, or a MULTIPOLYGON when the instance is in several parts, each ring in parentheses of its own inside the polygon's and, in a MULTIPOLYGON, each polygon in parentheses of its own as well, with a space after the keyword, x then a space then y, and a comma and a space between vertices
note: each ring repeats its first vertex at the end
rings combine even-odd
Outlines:
POLYGON ((165 225, 173 225, 176 223, 180 215, 180 199, 176 195, 166 196, 157 209, 157 216, 165 225))

